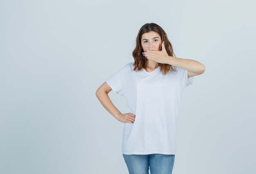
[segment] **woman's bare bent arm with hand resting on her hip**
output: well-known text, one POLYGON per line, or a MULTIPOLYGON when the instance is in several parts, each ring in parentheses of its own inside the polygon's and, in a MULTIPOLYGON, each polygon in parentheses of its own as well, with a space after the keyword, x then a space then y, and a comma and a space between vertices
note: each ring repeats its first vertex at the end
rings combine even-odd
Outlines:
POLYGON ((135 115, 132 113, 122 114, 112 103, 110 100, 108 93, 112 89, 110 86, 104 82, 96 91, 96 96, 101 102, 102 106, 111 114, 113 115, 118 121, 126 122, 126 123, 133 123, 135 121, 135 115))

